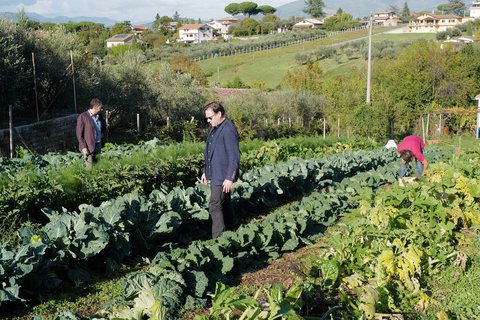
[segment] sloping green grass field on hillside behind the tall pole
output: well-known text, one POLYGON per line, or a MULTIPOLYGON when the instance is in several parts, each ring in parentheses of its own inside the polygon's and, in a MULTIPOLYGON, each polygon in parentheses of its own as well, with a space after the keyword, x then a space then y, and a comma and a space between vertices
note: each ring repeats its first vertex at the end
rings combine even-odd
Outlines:
MULTIPOLYGON (((383 33, 385 29, 374 30, 374 42, 386 39, 393 41, 411 41, 419 38, 433 39, 434 34, 403 34, 383 33)), ((275 89, 281 83, 288 70, 298 67, 295 56, 300 52, 313 51, 319 46, 339 44, 358 39, 367 39, 368 30, 360 30, 339 34, 330 38, 303 43, 284 48, 277 48, 254 53, 221 57, 198 62, 200 68, 208 75, 210 83, 219 82, 225 86, 227 82, 239 77, 244 83, 252 84, 255 81, 265 83, 269 89, 275 89)), ((332 76, 348 72, 355 64, 365 64, 362 60, 341 61, 337 63, 333 59, 321 62, 326 76, 332 76)))

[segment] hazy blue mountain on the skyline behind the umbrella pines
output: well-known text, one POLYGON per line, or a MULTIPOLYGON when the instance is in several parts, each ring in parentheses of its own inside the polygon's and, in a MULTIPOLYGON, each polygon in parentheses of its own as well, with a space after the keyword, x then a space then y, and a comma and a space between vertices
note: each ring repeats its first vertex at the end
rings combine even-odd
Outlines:
MULTIPOLYGON (((327 14, 335 13, 338 8, 342 8, 352 14, 355 18, 363 18, 369 16, 376 11, 387 10, 391 5, 397 6, 400 10, 403 9, 404 3, 407 2, 410 11, 432 11, 436 9, 439 4, 447 3, 446 0, 325 0, 325 12, 327 14)), ((467 8, 469 8, 470 2, 465 1, 467 8)), ((283 6, 277 7, 275 15, 282 19, 288 19, 291 17, 308 17, 303 12, 305 7, 304 0, 297 0, 287 3, 283 6)))

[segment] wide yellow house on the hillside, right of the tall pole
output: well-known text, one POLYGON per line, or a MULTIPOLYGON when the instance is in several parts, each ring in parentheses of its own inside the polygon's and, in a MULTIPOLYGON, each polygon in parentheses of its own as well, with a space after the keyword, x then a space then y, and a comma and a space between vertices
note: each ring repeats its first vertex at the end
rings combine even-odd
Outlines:
POLYGON ((455 15, 424 14, 408 22, 408 32, 436 33, 454 28, 463 23, 462 17, 455 15))

